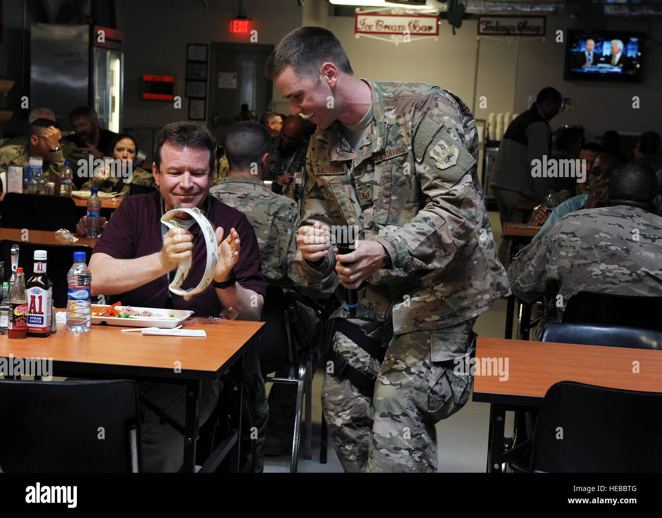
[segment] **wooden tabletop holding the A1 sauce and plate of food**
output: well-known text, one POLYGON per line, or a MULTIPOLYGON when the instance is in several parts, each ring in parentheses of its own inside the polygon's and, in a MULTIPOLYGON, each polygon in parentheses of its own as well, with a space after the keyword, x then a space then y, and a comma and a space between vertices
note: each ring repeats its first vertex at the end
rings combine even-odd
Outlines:
POLYGON ((113 325, 92 325, 87 333, 73 334, 64 324, 46 338, 9 339, 0 336, 0 357, 50 358, 53 375, 58 370, 114 375, 216 379, 222 366, 238 357, 263 322, 234 320, 223 324, 193 325, 207 337, 142 336, 122 333, 113 325), (176 364, 175 362, 179 362, 176 364), (175 367, 181 365, 181 373, 175 367))

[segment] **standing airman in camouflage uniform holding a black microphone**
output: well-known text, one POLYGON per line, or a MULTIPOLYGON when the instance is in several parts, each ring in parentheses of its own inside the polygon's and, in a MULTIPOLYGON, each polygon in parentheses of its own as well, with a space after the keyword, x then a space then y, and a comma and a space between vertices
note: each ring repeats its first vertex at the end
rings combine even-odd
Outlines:
POLYGON ((340 462, 347 471, 435 471, 434 425, 473 384, 453 361, 472 352, 477 316, 510 291, 471 111, 440 87, 358 79, 322 28, 285 36, 266 75, 318 126, 297 236, 301 278, 314 285, 337 273, 358 292, 356 317, 336 315, 342 330, 322 388, 340 462), (336 255, 324 225, 357 228, 355 250, 336 255))

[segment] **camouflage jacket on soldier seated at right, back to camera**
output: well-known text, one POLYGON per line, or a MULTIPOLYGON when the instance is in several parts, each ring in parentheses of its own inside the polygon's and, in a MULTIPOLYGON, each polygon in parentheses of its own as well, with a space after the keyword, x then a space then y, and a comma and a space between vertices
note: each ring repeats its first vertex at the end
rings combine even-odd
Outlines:
POLYGON ((579 291, 662 296, 662 218, 619 205, 575 210, 539 234, 508 268, 512 291, 557 297, 558 321, 579 291))

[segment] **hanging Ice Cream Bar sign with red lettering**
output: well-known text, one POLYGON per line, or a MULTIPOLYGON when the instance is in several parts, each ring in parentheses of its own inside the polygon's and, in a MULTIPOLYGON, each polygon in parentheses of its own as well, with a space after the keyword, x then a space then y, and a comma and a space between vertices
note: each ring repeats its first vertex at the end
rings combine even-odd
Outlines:
POLYGON ((438 36, 439 18, 426 15, 380 15, 355 13, 355 34, 408 34, 438 36))

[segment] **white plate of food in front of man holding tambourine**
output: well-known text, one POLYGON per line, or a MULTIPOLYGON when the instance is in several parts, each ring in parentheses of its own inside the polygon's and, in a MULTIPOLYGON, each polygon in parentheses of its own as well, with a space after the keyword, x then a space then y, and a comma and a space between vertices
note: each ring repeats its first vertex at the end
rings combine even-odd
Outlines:
POLYGON ((92 324, 121 325, 122 327, 177 327, 193 315, 191 310, 160 310, 115 304, 92 304, 92 324))

